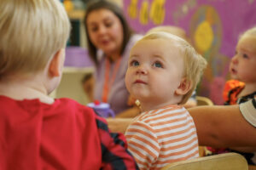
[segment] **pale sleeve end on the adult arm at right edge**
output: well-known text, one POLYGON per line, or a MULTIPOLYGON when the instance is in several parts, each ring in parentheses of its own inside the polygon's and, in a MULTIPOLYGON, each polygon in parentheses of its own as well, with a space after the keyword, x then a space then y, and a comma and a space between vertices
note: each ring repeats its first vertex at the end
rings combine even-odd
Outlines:
POLYGON ((251 99, 245 103, 242 103, 239 105, 241 115, 244 116, 244 118, 253 125, 253 127, 256 127, 256 99, 251 99))

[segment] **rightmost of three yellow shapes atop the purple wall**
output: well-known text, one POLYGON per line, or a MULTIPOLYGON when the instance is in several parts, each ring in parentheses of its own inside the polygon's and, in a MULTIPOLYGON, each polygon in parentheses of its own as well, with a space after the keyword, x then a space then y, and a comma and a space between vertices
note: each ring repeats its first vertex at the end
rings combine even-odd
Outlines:
POLYGON ((151 4, 149 16, 155 25, 160 25, 165 20, 165 3, 166 0, 154 0, 151 4))

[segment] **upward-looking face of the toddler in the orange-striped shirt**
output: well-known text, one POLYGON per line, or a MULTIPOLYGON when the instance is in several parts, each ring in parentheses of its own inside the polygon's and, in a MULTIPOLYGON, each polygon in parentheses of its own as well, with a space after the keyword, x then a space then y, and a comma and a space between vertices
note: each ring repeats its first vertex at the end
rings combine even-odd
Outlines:
POLYGON ((183 78, 183 67, 183 57, 170 41, 163 38, 142 40, 131 49, 126 88, 141 102, 172 104, 175 90, 183 78))

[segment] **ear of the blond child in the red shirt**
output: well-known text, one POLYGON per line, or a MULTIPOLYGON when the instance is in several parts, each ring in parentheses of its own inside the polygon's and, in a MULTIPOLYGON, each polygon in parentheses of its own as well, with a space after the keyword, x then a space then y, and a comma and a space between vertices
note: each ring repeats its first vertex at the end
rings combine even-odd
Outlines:
POLYGON ((49 75, 51 77, 60 77, 64 64, 65 49, 58 50, 49 63, 49 75))

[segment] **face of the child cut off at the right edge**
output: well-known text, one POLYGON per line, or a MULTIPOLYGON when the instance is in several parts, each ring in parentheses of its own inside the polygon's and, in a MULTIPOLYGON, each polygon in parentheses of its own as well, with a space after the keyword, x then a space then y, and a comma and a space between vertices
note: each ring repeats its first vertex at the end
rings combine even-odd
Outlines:
POLYGON ((256 82, 256 37, 241 37, 230 62, 230 75, 241 82, 256 82))

